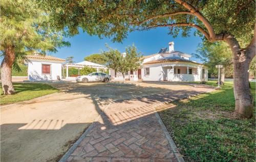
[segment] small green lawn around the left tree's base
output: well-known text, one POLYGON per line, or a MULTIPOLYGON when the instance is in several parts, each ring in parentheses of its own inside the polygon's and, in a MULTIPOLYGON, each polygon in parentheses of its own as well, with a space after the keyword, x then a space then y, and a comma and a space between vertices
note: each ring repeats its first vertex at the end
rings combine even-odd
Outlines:
MULTIPOLYGON (((1 105, 10 104, 19 101, 26 101, 36 97, 41 97, 47 94, 58 92, 57 89, 47 84, 41 83, 13 83, 16 94, 3 95, 1 94, 1 105)), ((2 88, 0 88, 2 92, 2 88)))

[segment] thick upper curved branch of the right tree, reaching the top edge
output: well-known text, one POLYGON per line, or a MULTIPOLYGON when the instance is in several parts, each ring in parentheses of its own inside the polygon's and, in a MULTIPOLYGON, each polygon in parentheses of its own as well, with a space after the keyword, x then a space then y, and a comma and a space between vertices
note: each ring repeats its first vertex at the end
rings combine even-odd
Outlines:
POLYGON ((182 0, 175 0, 175 1, 178 4, 182 5, 183 7, 185 7, 186 9, 188 9, 193 15, 197 16, 197 18, 203 22, 203 24, 205 25, 205 28, 207 29, 207 31, 209 33, 208 40, 210 42, 214 42, 216 35, 215 35, 214 29, 212 28, 210 22, 199 11, 197 11, 197 9, 195 7, 193 7, 192 5, 186 3, 182 0))

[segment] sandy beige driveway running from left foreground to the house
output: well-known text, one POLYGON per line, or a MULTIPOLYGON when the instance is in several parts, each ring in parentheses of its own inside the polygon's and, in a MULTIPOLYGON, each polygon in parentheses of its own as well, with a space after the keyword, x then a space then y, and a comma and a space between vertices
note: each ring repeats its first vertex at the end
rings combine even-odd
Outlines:
MULTIPOLYGON (((62 92, 1 107, 1 161, 56 161, 95 119, 104 121, 102 113, 109 103, 118 102, 118 107, 127 110, 136 105, 129 102, 135 102, 138 97, 154 98, 154 95, 168 93, 168 96, 157 97, 175 100, 183 94, 212 91, 203 85, 167 82, 138 82, 136 86, 51 85, 62 92)), ((154 100, 147 100, 143 105, 150 102, 154 100)), ((114 109, 115 106, 110 107, 106 112, 114 109)))

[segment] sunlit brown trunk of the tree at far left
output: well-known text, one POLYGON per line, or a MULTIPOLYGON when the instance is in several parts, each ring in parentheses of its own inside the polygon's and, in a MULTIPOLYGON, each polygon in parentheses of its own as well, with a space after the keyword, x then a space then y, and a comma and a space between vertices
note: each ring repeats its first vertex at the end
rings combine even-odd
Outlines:
POLYGON ((5 49, 5 57, 1 64, 1 82, 4 94, 14 94, 12 86, 12 65, 15 60, 14 47, 9 46, 5 49))

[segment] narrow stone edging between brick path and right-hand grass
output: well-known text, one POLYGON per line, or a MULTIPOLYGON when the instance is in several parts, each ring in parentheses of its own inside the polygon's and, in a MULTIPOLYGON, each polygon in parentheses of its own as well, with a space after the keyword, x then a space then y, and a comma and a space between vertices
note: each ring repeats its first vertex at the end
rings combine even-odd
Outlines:
POLYGON ((166 137, 166 139, 167 139, 167 141, 169 143, 170 148, 172 148, 176 158, 178 159, 179 162, 184 162, 184 159, 183 159, 182 155, 180 154, 179 149, 175 145, 172 137, 170 137, 170 134, 169 134, 168 130, 166 129, 162 119, 160 118, 160 116, 158 115, 157 112, 155 113, 155 115, 156 115, 158 123, 160 124, 162 130, 164 131, 165 137, 166 137))

